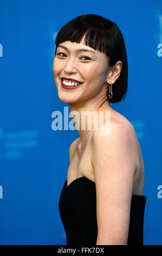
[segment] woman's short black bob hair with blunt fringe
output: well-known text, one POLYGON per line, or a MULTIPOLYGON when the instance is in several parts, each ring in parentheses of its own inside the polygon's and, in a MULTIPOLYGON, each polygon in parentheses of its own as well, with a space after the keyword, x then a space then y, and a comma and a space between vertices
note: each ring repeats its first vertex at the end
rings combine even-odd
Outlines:
POLYGON ((122 98, 125 99, 128 80, 126 47, 119 27, 111 20, 96 14, 86 14, 69 21, 60 29, 56 36, 55 55, 57 46, 61 42, 71 41, 80 43, 84 35, 85 45, 94 48, 94 50, 99 50, 109 57, 109 68, 121 60, 122 69, 120 76, 115 83, 112 84, 113 97, 108 97, 107 100, 111 103, 115 103, 121 101, 122 98))

